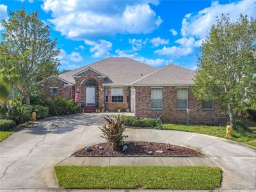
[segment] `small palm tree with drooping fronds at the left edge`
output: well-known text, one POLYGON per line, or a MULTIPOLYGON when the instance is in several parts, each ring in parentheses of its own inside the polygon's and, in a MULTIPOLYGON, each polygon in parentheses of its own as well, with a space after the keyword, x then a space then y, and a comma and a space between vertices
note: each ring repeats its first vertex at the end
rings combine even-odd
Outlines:
POLYGON ((0 70, 0 103, 7 106, 7 118, 10 118, 14 105, 15 90, 20 86, 20 76, 15 68, 3 68, 0 70), (11 102, 9 101, 11 95, 11 102))

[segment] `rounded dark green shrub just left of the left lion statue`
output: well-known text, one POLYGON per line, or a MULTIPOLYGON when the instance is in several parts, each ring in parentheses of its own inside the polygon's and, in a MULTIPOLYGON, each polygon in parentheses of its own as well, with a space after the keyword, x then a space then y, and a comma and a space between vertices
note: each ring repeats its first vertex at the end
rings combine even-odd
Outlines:
POLYGON ((29 109, 19 107, 19 108, 13 109, 11 116, 12 116, 12 119, 15 120, 17 124, 23 124, 24 122, 29 121, 31 117, 31 113, 29 109))

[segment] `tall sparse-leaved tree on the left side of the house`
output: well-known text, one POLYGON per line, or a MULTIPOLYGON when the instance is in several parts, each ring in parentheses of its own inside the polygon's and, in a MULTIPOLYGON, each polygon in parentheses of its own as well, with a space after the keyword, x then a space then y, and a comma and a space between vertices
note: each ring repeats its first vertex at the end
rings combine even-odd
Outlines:
POLYGON ((10 19, 1 20, 5 29, 0 44, 0 68, 16 68, 22 78, 19 92, 30 103, 29 96, 38 89, 38 83, 56 74, 60 50, 51 40, 49 26, 38 19, 38 13, 26 10, 10 12, 10 19))

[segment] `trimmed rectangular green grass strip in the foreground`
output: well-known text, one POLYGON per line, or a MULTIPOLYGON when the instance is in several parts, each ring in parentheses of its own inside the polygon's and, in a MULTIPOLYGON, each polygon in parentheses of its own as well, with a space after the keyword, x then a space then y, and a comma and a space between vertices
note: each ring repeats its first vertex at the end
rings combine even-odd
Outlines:
POLYGON ((216 189, 221 169, 205 166, 56 166, 65 189, 216 189))

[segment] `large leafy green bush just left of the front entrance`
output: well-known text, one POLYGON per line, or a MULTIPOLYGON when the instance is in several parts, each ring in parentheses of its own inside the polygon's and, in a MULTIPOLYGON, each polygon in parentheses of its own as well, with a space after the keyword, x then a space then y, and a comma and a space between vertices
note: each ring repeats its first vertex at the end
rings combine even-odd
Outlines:
POLYGON ((66 100, 63 97, 47 99, 46 104, 52 115, 68 115, 79 112, 79 106, 73 99, 66 100))

